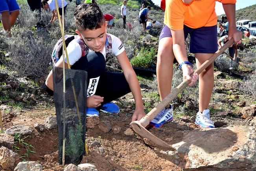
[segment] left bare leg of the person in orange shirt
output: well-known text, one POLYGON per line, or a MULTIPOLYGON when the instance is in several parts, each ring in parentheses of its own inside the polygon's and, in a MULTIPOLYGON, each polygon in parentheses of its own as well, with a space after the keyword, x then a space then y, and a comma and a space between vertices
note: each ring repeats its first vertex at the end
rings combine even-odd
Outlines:
MULTIPOLYGON (((161 101, 171 92, 173 77, 172 38, 164 37, 159 40, 157 53, 157 84, 161 101)), ((169 107, 166 106, 166 108, 169 107)))

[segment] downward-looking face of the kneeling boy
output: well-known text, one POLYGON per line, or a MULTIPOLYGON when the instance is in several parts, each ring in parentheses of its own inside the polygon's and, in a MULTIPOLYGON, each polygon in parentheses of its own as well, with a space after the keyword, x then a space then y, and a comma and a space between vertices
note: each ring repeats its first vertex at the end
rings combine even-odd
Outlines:
POLYGON ((76 30, 76 33, 85 41, 90 50, 97 52, 102 51, 105 47, 107 37, 106 32, 106 22, 102 22, 101 28, 98 29, 86 29, 83 31, 76 30))

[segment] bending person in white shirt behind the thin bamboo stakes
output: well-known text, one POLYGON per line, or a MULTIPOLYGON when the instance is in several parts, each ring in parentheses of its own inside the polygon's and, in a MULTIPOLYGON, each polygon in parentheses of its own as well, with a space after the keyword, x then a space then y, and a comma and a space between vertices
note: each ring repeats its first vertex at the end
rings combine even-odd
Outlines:
MULTIPOLYGON (((59 8, 59 15, 61 16, 61 20, 62 20, 62 0, 57 0, 57 4, 58 4, 58 7, 55 6, 55 0, 43 0, 41 2, 41 7, 43 9, 50 9, 52 11, 52 19, 50 20, 50 24, 53 23, 53 21, 58 17, 57 16, 57 8, 59 8)), ((68 3, 63 0, 64 2, 64 15, 65 15, 65 11, 66 11, 66 7, 68 6, 68 3)))

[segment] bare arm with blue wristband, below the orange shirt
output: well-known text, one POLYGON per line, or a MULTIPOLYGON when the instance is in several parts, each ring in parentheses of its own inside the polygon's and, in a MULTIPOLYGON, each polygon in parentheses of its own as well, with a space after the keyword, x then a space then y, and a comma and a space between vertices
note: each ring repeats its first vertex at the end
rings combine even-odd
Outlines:
MULTIPOLYGON (((184 61, 188 61, 183 29, 181 30, 171 29, 171 35, 172 35, 172 41, 173 41, 173 53, 178 63, 180 64, 184 61)), ((193 84, 195 84, 195 82, 198 79, 198 74, 193 74, 193 77, 190 76, 190 74, 192 74, 193 72, 192 66, 188 64, 183 64, 181 68, 183 71, 183 79, 188 79, 191 81, 189 83, 189 86, 192 86, 193 84)))

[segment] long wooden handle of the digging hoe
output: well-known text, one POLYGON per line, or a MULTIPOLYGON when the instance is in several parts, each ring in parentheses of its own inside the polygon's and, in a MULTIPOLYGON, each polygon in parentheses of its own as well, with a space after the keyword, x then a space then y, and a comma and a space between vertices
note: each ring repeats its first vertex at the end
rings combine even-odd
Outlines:
MULTIPOLYGON (((199 68, 197 68, 193 73, 200 74, 205 68, 214 62, 221 53, 223 53, 228 47, 234 43, 234 39, 228 40, 224 46, 217 50, 208 60, 206 60, 199 68)), ((193 73, 190 75, 192 76, 193 73)), ((166 96, 156 107, 154 107, 146 116, 144 116, 139 122, 143 127, 149 125, 149 122, 157 116, 157 114, 166 107, 177 95, 190 83, 189 80, 185 79, 180 85, 174 88, 171 93, 166 96)))

